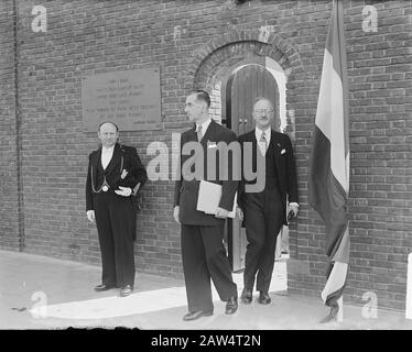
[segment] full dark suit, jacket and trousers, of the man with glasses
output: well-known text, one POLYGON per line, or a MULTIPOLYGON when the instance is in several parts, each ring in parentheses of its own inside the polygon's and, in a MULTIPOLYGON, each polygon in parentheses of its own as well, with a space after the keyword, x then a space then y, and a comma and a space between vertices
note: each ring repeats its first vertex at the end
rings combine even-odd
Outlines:
MULTIPOLYGON (((242 180, 239 185, 238 205, 243 212, 243 224, 248 240, 243 285, 268 293, 273 265, 277 237, 286 224, 286 205, 297 202, 297 183, 292 143, 286 134, 271 130, 271 139, 265 154, 259 148, 254 129, 239 136, 242 152, 245 143, 252 144, 252 169, 257 172, 258 157, 264 158, 264 188, 261 191, 247 191, 246 186, 256 179, 242 180), (257 277, 256 277, 257 276, 257 277)), ((242 170, 245 170, 242 156, 242 170)), ((258 170, 259 172, 259 170, 258 170)))

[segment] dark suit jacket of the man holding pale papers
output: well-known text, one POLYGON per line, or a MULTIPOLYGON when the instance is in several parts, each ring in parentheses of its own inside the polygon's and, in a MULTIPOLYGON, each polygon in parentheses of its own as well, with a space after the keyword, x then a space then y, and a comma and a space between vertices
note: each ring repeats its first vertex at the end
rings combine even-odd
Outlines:
MULTIPOLYGON (((220 153, 217 153, 219 156, 216 157, 215 170, 216 178, 209 177, 207 175, 208 167, 213 167, 210 164, 212 158, 208 161, 207 150, 209 147, 218 147, 219 142, 225 142, 227 145, 231 142, 237 141, 236 134, 234 131, 216 123, 212 120, 205 135, 200 141, 202 153, 204 160, 204 174, 202 179, 213 182, 221 185, 221 198, 219 207, 226 210, 231 211, 234 206, 235 194, 238 188, 238 180, 235 180, 232 173, 232 158, 231 153, 227 160, 227 177, 219 177, 219 157, 220 153)), ((199 188, 199 179, 186 180, 184 175, 182 175, 182 166, 192 157, 191 155, 182 155, 182 147, 187 142, 197 142, 197 134, 195 127, 191 130, 182 133, 181 135, 181 160, 180 160, 180 179, 175 183, 175 193, 174 193, 174 206, 180 206, 180 220, 184 224, 203 224, 203 226, 216 226, 221 224, 223 219, 217 219, 214 215, 206 215, 203 211, 196 210, 197 206, 197 196, 199 188)), ((194 152, 192 153, 192 155, 194 152)))

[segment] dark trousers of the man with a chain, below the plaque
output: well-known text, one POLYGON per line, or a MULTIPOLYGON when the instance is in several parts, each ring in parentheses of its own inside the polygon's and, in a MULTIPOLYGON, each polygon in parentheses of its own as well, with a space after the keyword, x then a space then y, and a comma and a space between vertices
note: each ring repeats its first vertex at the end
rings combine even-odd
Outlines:
POLYGON ((101 282, 123 287, 134 284, 132 230, 133 207, 130 197, 111 191, 95 197, 96 226, 101 252, 101 282))

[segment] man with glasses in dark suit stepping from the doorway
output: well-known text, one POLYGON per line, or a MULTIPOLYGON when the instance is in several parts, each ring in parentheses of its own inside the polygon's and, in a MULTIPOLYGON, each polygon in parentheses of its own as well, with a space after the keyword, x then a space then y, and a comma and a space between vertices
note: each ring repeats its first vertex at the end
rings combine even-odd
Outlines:
MULTIPOLYGON (((239 136, 241 151, 246 144, 252 146, 252 165, 242 165, 242 170, 252 168, 261 179, 264 188, 253 191, 252 184, 257 179, 246 179, 239 185, 238 215, 243 219, 248 245, 245 258, 243 290, 241 300, 250 304, 254 279, 257 290, 260 292, 259 302, 271 302, 269 286, 274 265, 277 237, 283 224, 286 224, 286 207, 289 202, 290 216, 295 217, 299 211, 297 183, 292 144, 286 134, 271 129, 273 120, 273 105, 264 98, 257 98, 252 112, 256 129, 239 136), (261 158, 261 163, 259 163, 261 158), (257 169, 257 165, 264 165, 257 169)), ((242 157, 243 160, 243 157, 242 157)), ((243 161, 246 163, 249 160, 243 161)))

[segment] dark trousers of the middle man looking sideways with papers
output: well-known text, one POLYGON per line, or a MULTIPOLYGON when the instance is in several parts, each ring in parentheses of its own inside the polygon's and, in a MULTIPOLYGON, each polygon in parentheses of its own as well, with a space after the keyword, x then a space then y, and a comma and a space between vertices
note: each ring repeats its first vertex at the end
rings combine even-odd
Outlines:
POLYGON ((224 224, 182 224, 182 260, 189 311, 213 310, 210 278, 223 301, 237 297, 223 243, 224 224))

